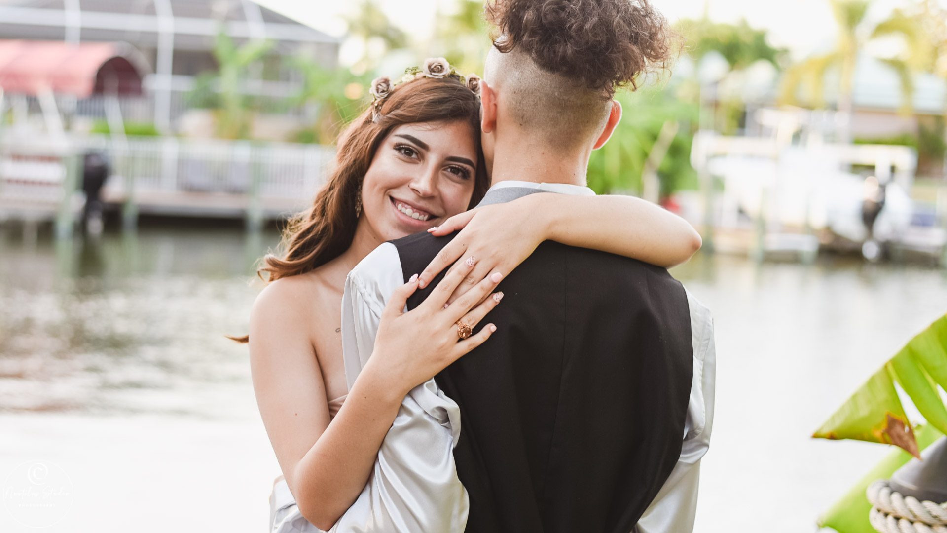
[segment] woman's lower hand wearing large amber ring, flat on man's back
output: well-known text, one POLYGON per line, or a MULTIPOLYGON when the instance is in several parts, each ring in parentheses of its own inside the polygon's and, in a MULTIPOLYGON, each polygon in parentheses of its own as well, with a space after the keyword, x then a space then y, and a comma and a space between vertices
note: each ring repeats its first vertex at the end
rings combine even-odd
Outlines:
POLYGON ((491 290, 503 279, 500 272, 488 272, 489 275, 481 277, 462 297, 447 303, 457 285, 470 277, 480 263, 474 257, 462 261, 444 276, 424 302, 407 313, 403 312, 404 305, 418 288, 418 275, 395 289, 384 307, 375 350, 363 372, 384 377, 401 398, 489 339, 496 331, 492 323, 475 335, 471 330, 503 298, 502 292, 491 295, 491 290), (469 326, 466 330, 469 338, 460 339, 458 322, 469 326))

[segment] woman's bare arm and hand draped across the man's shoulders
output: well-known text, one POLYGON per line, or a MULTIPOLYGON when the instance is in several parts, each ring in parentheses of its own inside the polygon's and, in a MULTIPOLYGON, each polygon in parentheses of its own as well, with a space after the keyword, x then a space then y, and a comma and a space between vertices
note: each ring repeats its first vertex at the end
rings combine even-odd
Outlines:
MULTIPOLYGON (((700 234, 683 218, 651 202, 621 195, 529 194, 457 214, 431 232, 440 236, 456 230, 460 232, 455 239, 421 273, 422 287, 461 255, 480 260, 472 278, 489 268, 510 271, 546 240, 616 253, 658 267, 683 263, 701 248, 700 234)), ((469 287, 461 284, 454 297, 469 287)))

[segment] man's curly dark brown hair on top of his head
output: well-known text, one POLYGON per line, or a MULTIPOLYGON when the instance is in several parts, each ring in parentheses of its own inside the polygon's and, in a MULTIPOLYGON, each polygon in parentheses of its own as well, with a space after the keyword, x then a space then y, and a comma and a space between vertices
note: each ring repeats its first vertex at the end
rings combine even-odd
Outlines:
POLYGON ((607 98, 673 55, 667 20, 648 0, 490 0, 485 12, 499 51, 521 50, 607 98))

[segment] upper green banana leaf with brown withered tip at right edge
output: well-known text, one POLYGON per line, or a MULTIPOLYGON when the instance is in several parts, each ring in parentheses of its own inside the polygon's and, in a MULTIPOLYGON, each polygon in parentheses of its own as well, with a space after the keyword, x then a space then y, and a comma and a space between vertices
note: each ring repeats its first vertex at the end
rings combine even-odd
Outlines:
POLYGON ((928 424, 947 434, 947 315, 940 317, 869 377, 813 437, 894 444, 920 456, 918 440, 894 384, 901 385, 928 424))

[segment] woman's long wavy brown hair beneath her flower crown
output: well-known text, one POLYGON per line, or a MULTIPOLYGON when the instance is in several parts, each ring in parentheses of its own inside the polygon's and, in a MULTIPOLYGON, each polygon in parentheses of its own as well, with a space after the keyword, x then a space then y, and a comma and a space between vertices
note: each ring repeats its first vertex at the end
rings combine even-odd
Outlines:
MULTIPOLYGON (((354 119, 339 136, 331 172, 313 200, 313 207, 296 214, 283 231, 281 257, 262 258, 257 274, 266 281, 295 276, 321 267, 346 251, 358 225, 356 205, 362 180, 392 130, 402 124, 466 122, 477 151, 474 195, 470 207, 490 188, 480 149, 480 99, 456 76, 420 78, 394 87, 384 99, 377 121, 371 106, 354 119)), ((230 337, 240 342, 249 336, 230 337)))

